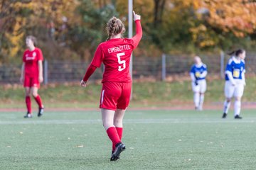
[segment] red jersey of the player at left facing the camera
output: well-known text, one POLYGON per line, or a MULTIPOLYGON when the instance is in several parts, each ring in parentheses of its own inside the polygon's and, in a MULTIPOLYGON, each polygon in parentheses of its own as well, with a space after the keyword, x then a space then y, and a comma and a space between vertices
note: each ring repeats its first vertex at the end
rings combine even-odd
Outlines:
POLYGON ((38 77, 38 61, 43 61, 42 51, 39 48, 30 51, 26 50, 23 54, 23 62, 25 62, 25 76, 27 77, 38 77))

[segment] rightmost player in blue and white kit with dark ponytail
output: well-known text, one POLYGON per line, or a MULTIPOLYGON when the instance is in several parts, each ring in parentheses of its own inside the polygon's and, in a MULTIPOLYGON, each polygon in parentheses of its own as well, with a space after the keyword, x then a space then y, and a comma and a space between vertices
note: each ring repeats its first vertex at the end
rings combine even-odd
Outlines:
POLYGON ((234 116, 235 119, 241 119, 241 98, 245 87, 245 50, 236 50, 229 55, 225 69, 225 102, 223 118, 227 117, 230 108, 231 98, 235 98, 234 116))

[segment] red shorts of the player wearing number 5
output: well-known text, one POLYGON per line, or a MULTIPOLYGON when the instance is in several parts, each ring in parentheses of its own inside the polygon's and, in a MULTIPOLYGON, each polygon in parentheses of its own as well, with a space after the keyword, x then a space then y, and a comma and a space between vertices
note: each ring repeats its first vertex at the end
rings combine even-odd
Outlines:
POLYGON ((100 108, 116 111, 129 106, 132 82, 105 82, 102 85, 100 108))

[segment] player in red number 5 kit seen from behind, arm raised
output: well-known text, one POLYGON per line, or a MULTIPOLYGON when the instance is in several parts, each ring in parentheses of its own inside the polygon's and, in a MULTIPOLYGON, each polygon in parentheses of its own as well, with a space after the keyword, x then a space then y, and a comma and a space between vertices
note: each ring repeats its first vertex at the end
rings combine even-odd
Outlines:
MULTIPOLYGON (((134 12, 133 12, 134 13, 134 12)), ((124 24, 118 18, 111 18, 107 23, 108 38, 102 42, 95 52, 95 56, 87 69, 81 86, 86 87, 87 80, 101 63, 105 65, 102 79, 102 93, 100 108, 102 123, 107 135, 112 141, 112 155, 110 161, 119 159, 119 154, 125 149, 122 143, 122 120, 132 89, 132 79, 129 73, 129 61, 139 41, 142 39, 140 16, 134 13, 136 35, 133 38, 122 38, 125 31, 124 24)))

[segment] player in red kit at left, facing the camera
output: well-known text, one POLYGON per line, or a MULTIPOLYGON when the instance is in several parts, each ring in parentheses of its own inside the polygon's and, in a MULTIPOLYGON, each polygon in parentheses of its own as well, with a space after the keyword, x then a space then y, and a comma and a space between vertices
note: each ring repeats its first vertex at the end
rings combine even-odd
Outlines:
POLYGON ((38 117, 43 115, 43 103, 38 95, 40 83, 43 82, 43 54, 42 51, 35 47, 36 38, 29 35, 26 37, 27 50, 23 53, 23 64, 21 67, 21 84, 26 89, 26 107, 28 109, 24 118, 32 118, 31 112, 31 93, 38 103, 38 117))

